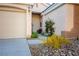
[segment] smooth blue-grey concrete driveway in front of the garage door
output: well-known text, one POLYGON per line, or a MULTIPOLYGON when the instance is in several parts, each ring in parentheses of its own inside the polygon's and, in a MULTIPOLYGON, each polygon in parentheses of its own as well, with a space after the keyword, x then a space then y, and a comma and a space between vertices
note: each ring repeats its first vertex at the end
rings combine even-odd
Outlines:
POLYGON ((0 39, 0 56, 30 56, 26 39, 0 39))

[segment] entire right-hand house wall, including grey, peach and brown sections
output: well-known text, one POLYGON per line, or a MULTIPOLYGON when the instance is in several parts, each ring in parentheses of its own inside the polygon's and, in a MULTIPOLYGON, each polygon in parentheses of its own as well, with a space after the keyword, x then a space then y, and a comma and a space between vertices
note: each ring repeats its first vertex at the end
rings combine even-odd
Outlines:
POLYGON ((79 4, 64 4, 55 10, 43 14, 43 29, 47 18, 55 22, 55 33, 66 38, 79 36, 79 4))

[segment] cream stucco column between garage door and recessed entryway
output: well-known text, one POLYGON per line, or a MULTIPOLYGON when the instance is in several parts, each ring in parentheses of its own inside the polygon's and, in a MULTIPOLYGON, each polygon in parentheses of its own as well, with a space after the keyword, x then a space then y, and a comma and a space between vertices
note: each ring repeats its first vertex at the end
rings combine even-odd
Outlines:
POLYGON ((32 11, 31 6, 27 6, 26 11, 26 37, 30 38, 32 33, 32 11))

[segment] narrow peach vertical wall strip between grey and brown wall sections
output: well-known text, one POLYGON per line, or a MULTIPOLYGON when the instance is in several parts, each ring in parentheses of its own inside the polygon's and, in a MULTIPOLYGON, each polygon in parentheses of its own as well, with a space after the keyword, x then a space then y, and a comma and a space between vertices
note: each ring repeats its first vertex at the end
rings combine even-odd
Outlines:
POLYGON ((65 31, 71 31, 73 28, 73 20, 74 20, 74 5, 66 4, 67 15, 66 15, 66 25, 65 31))

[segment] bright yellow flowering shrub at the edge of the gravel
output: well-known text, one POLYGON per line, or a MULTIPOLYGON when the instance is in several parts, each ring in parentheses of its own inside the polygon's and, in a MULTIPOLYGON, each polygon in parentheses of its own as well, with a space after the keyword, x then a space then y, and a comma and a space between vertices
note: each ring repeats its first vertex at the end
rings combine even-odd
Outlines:
POLYGON ((49 36, 47 38, 47 40, 44 40, 43 43, 46 45, 46 46, 51 46, 55 49, 59 49, 61 48, 61 46, 64 44, 64 45, 67 45, 67 44, 70 44, 70 41, 66 38, 64 38, 63 36, 57 36, 57 35, 52 35, 52 36, 49 36))

